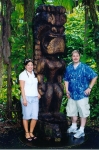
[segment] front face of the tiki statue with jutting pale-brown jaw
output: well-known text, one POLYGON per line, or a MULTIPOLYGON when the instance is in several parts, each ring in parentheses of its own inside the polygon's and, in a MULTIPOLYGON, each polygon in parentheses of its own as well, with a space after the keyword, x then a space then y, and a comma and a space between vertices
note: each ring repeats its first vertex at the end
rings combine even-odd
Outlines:
POLYGON ((63 24, 66 22, 65 14, 43 12, 42 18, 50 25, 49 30, 43 30, 41 38, 42 52, 45 54, 64 53, 65 36, 63 24))

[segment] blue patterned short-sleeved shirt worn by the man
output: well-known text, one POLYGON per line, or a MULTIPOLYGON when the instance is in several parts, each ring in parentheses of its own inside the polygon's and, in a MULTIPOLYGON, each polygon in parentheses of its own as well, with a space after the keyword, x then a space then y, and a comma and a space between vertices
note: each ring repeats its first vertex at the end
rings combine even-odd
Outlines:
POLYGON ((64 74, 64 81, 69 82, 68 90, 70 97, 74 100, 88 97, 84 91, 96 76, 97 74, 88 65, 81 62, 76 68, 74 68, 73 63, 68 65, 64 74))

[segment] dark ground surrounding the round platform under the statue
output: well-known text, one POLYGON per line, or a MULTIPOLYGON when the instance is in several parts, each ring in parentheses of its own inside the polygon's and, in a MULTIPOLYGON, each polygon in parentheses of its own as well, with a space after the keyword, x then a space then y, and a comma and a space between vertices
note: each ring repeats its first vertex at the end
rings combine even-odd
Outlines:
MULTIPOLYGON (((99 149, 98 121, 89 121, 86 128, 89 132, 87 135, 88 139, 83 144, 70 146, 68 149, 99 149)), ((21 136, 22 132, 23 129, 19 124, 14 124, 10 121, 0 122, 0 149, 42 149, 42 147, 39 147, 38 144, 37 147, 31 147, 20 141, 19 137, 21 136)), ((46 147, 46 149, 60 148, 46 147)), ((66 149, 66 147, 62 147, 62 149, 66 149)))

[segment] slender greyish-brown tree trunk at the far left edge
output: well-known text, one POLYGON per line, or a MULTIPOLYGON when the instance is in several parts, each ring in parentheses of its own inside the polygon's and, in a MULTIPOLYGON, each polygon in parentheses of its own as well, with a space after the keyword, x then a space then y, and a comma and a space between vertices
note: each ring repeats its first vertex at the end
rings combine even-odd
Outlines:
POLYGON ((11 1, 2 0, 2 15, 3 15, 3 47, 2 53, 4 58, 4 63, 7 64, 7 117, 11 119, 11 107, 12 107, 12 98, 11 98, 11 62, 9 56, 11 54, 9 37, 11 36, 10 29, 10 18, 11 18, 11 1))

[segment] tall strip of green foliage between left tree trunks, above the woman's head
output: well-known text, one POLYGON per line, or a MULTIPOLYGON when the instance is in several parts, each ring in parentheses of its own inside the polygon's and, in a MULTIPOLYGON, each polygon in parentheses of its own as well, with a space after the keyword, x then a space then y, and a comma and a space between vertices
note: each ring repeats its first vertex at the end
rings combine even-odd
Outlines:
POLYGON ((14 5, 15 11, 11 14, 12 34, 10 37, 11 42, 11 62, 12 71, 18 75, 23 69, 23 60, 25 58, 25 24, 24 22, 24 8, 22 3, 14 5))

